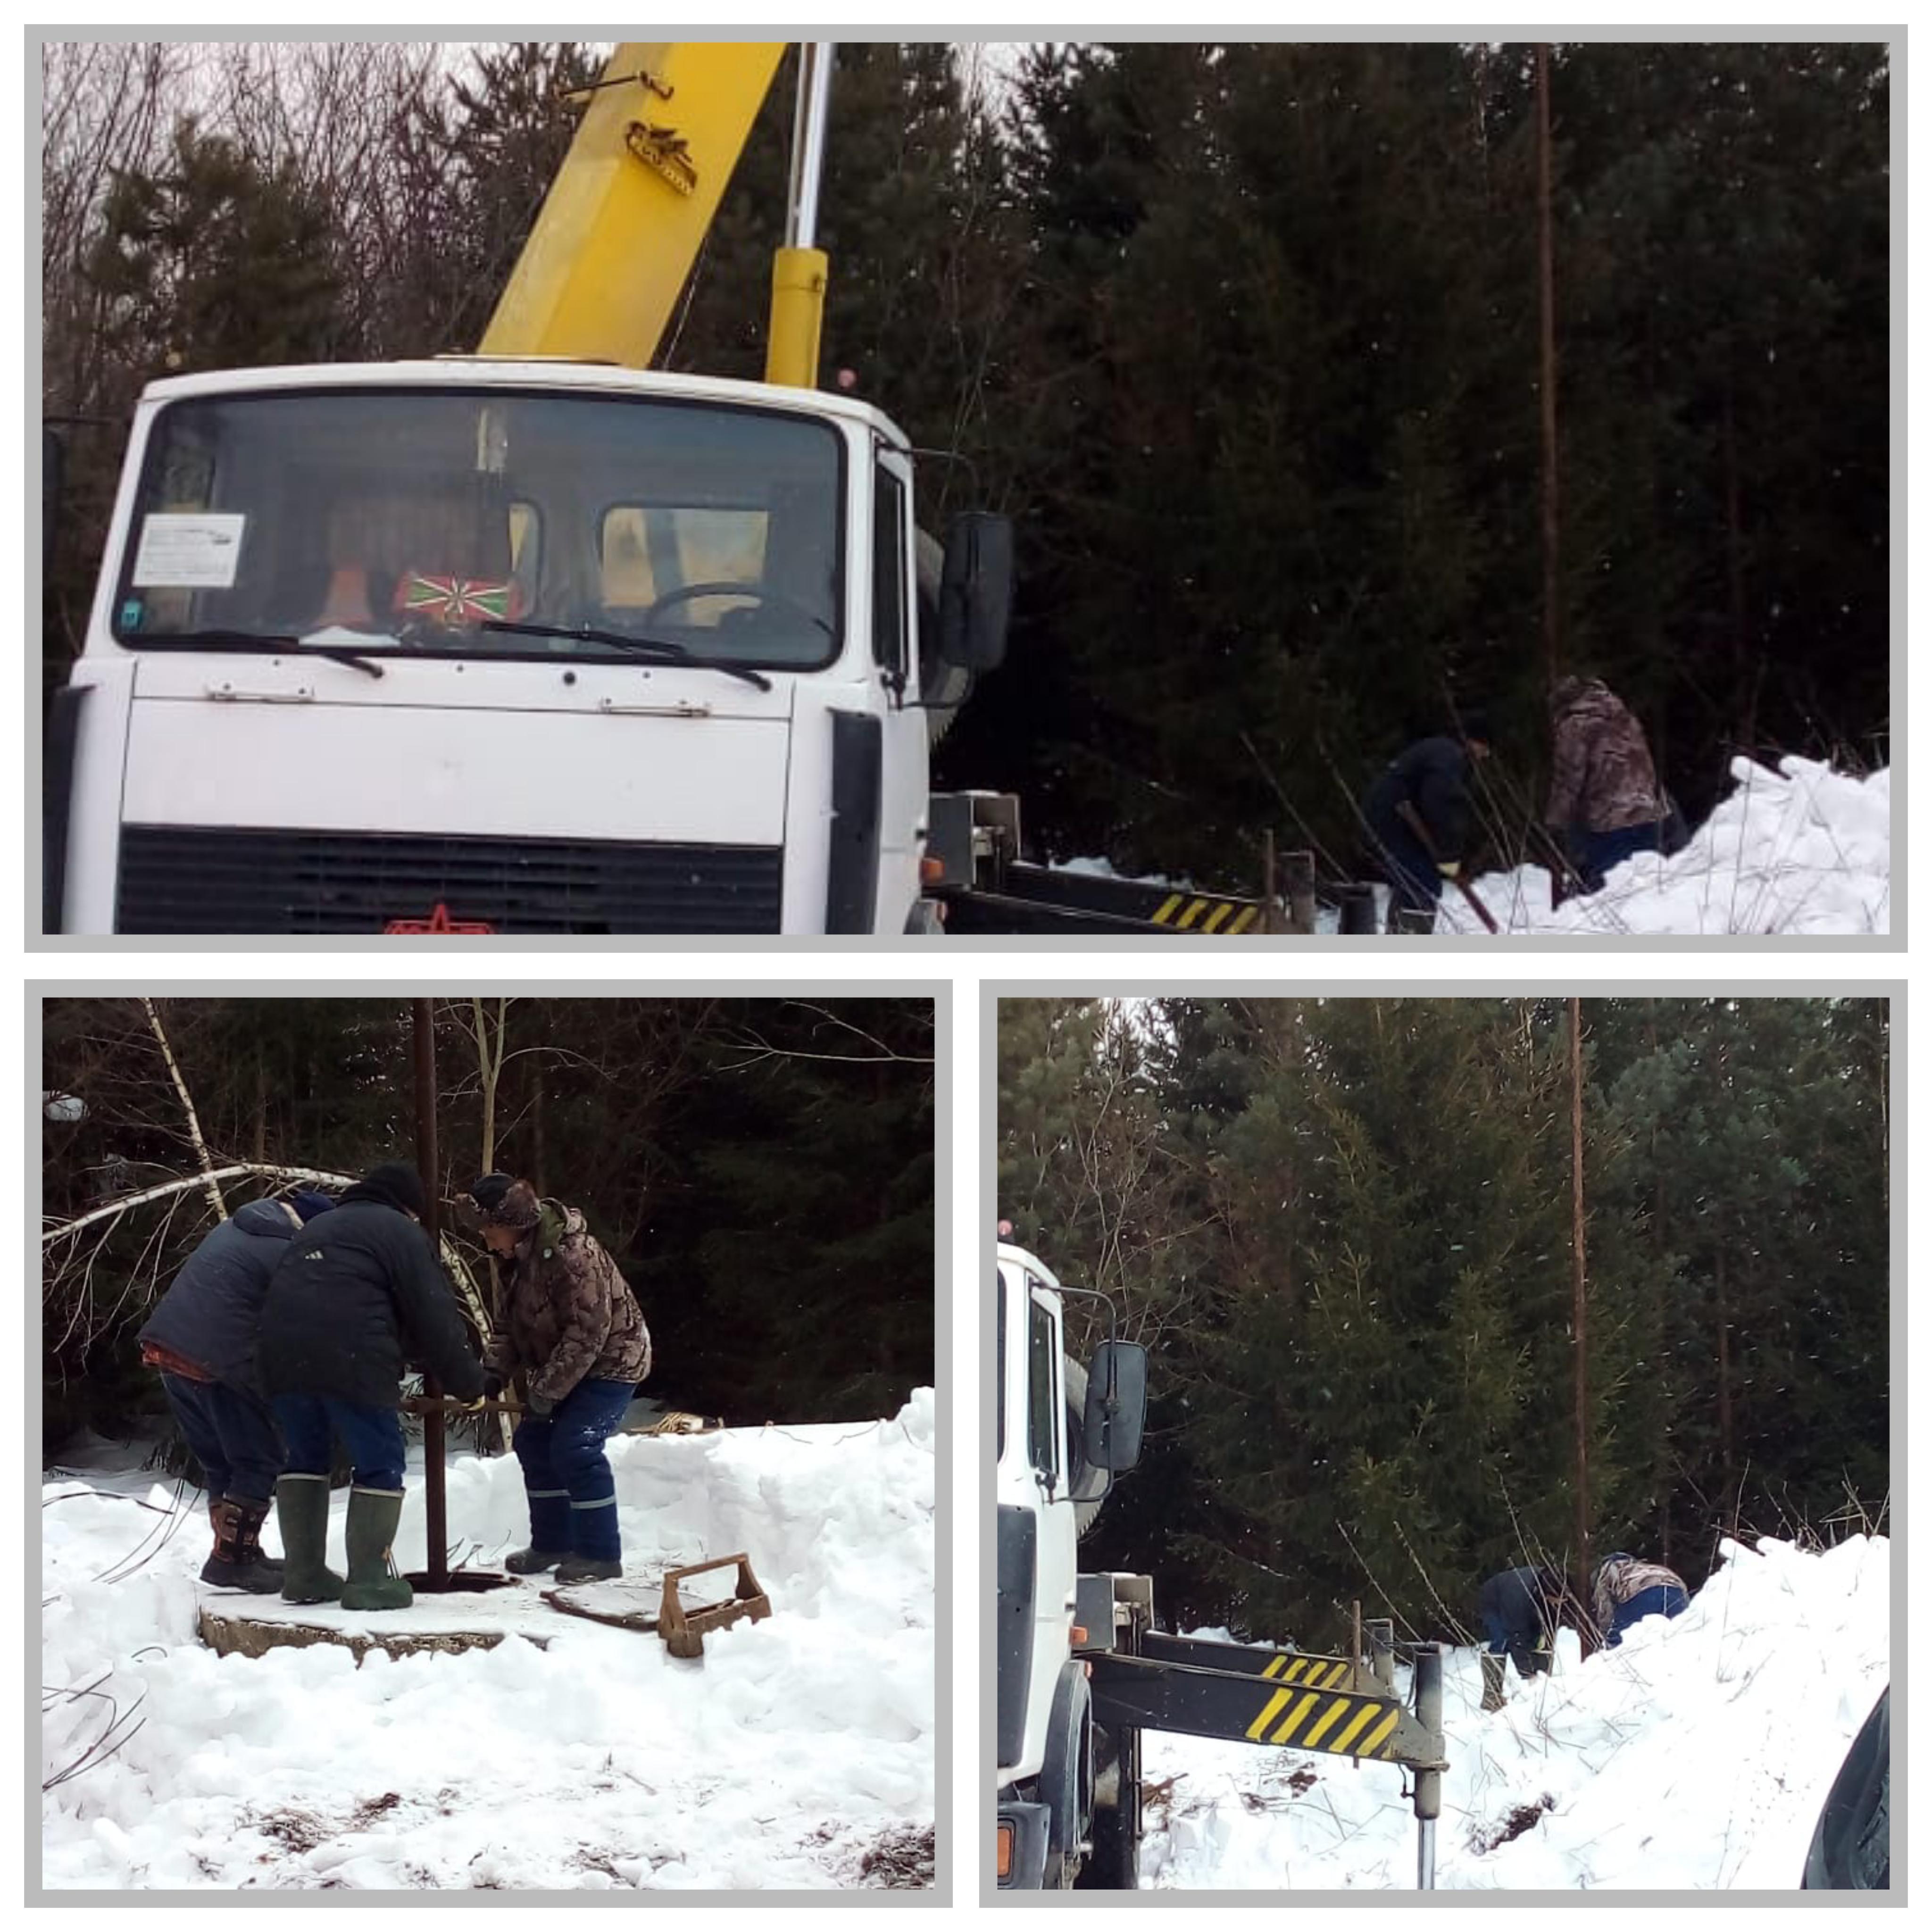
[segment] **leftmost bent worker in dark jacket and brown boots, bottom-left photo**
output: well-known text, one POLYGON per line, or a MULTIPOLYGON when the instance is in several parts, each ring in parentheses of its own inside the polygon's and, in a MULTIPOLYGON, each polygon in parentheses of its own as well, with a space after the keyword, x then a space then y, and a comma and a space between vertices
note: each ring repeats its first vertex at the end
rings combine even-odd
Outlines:
POLYGON ((201 1580, 267 1596, 282 1567, 261 1553, 261 1526, 282 1472, 282 1432, 255 1376, 255 1329, 269 1277, 328 1196, 247 1202, 182 1264, 141 1329, 141 1360, 160 1387, 209 1490, 214 1549, 201 1580))

